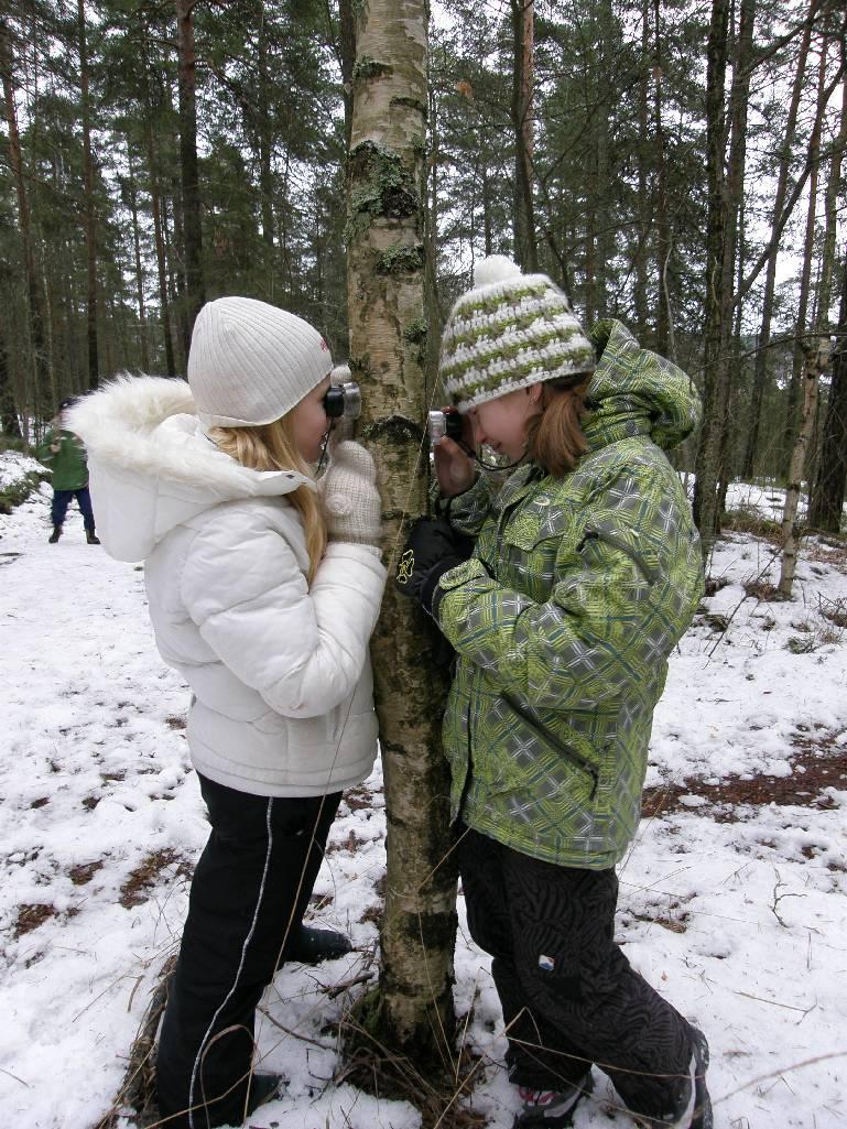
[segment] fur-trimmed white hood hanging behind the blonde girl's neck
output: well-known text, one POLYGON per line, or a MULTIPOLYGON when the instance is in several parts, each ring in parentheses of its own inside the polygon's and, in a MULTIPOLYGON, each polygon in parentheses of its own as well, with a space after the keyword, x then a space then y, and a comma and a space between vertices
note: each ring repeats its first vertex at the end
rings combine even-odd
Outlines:
POLYGON ((315 489, 299 471, 253 471, 219 450, 185 380, 117 377, 77 403, 67 426, 86 445, 97 531, 117 560, 142 560, 174 526, 220 502, 315 489))

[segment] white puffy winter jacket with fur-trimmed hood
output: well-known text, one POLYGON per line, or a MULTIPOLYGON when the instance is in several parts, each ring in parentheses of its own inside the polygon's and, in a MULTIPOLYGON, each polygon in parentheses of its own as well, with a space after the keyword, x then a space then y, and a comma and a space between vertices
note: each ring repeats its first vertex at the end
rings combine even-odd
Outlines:
POLYGON ((183 380, 123 377, 81 401, 69 426, 88 450, 106 551, 145 561, 156 644, 192 690, 198 771, 260 796, 363 780, 376 753, 378 551, 331 542, 309 588, 285 496, 314 482, 225 455, 183 380))

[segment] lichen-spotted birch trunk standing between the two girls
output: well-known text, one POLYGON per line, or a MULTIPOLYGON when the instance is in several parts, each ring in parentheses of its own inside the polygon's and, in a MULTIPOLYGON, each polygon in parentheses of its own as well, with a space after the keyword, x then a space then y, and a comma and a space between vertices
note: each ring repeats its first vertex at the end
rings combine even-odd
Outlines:
MULTIPOLYGON (((364 391, 363 437, 376 458, 390 569, 403 518, 426 509, 422 422, 427 6, 356 6, 349 156, 350 366, 364 391)), ((383 966, 364 1025, 392 1051, 429 1064, 452 1056, 456 916, 448 772, 440 752, 446 675, 420 609, 385 593, 372 640, 385 771, 387 875, 383 966)))

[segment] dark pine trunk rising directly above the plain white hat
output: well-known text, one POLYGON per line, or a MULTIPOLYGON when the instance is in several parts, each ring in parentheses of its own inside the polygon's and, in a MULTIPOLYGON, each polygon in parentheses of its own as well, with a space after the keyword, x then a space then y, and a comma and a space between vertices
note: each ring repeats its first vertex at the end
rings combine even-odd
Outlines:
POLYGON ((183 347, 189 355, 191 331, 206 301, 203 287, 203 235, 200 222, 200 177, 197 156, 197 75, 194 54, 195 0, 176 0, 180 51, 180 170, 182 175, 183 250, 185 253, 186 309, 183 347))

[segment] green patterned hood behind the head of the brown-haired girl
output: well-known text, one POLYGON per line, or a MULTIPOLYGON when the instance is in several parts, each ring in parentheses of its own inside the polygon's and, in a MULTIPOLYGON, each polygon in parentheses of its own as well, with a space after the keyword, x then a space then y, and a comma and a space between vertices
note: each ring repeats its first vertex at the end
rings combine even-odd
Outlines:
POLYGON ((693 380, 672 361, 641 349, 620 322, 597 322, 588 336, 600 358, 583 419, 590 448, 636 435, 649 435, 665 450, 682 443, 700 421, 693 380))

